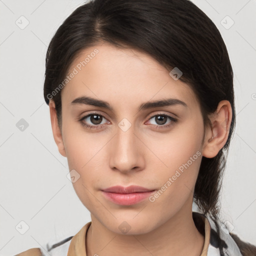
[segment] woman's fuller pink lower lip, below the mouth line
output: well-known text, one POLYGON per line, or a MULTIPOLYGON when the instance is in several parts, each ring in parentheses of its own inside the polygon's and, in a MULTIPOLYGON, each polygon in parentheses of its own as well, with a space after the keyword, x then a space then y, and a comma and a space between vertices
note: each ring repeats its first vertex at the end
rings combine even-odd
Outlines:
POLYGON ((155 190, 148 191, 148 192, 130 193, 130 194, 119 194, 119 193, 111 193, 106 191, 102 191, 102 193, 107 199, 109 199, 114 203, 121 204, 121 205, 131 205, 149 197, 150 194, 153 193, 154 191, 155 190))

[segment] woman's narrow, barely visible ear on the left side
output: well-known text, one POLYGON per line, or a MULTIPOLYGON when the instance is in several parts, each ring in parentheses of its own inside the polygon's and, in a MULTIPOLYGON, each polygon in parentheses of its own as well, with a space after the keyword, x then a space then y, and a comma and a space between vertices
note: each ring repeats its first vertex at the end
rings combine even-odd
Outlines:
POLYGON ((58 147, 58 151, 60 152, 60 154, 66 157, 66 152, 65 152, 65 148, 62 140, 62 134, 57 122, 57 113, 55 109, 55 103, 53 100, 49 101, 49 108, 50 108, 51 128, 52 128, 55 143, 58 147))

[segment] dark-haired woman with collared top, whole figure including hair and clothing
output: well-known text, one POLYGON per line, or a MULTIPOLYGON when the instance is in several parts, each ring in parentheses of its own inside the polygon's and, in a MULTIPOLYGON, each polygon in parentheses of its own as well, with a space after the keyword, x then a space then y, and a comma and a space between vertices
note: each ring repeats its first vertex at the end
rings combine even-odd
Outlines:
POLYGON ((192 2, 78 7, 50 41, 44 98, 91 221, 18 255, 256 255, 219 219, 233 72, 192 2))

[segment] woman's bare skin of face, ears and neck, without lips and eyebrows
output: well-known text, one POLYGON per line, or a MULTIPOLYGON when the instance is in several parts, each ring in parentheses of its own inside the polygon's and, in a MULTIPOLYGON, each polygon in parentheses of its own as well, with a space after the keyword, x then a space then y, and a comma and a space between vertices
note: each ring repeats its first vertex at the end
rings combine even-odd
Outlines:
MULTIPOLYGON (((84 49, 68 73, 95 48, 99 52, 61 91, 61 127, 54 102, 49 103, 54 140, 61 155, 67 157, 69 170, 79 173, 73 187, 91 214, 87 255, 200 255, 204 237, 192 219, 193 190, 202 156, 214 157, 225 144, 232 113, 229 101, 219 102, 209 116, 212 127, 205 127, 204 133, 199 102, 192 89, 174 80, 170 70, 150 55, 103 43, 84 49), (105 100, 113 110, 71 105, 79 96, 105 100), (145 101, 170 97, 184 101, 187 107, 138 111, 145 101), (78 121, 93 111, 105 117, 98 129, 86 128, 78 121), (178 121, 167 117, 161 124, 151 117, 156 114, 168 114, 178 121), (131 124, 126 131, 118 126, 123 118, 131 124), (156 127, 170 123, 170 127, 156 127), (133 205, 119 205, 100 191, 131 184, 159 190, 196 151, 201 153, 197 159, 154 202, 146 198, 133 205), (118 228, 123 221, 130 226, 127 233, 118 228)), ((83 122, 97 125, 90 117, 83 122)))

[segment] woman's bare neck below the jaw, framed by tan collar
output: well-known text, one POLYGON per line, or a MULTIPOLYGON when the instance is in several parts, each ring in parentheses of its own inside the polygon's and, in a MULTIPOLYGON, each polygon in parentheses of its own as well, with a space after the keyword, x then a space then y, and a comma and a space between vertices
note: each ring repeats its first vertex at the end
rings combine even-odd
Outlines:
POLYGON ((103 226, 93 215, 86 236, 86 255, 199 256, 204 236, 197 230, 190 211, 181 209, 150 232, 118 234, 103 226))

